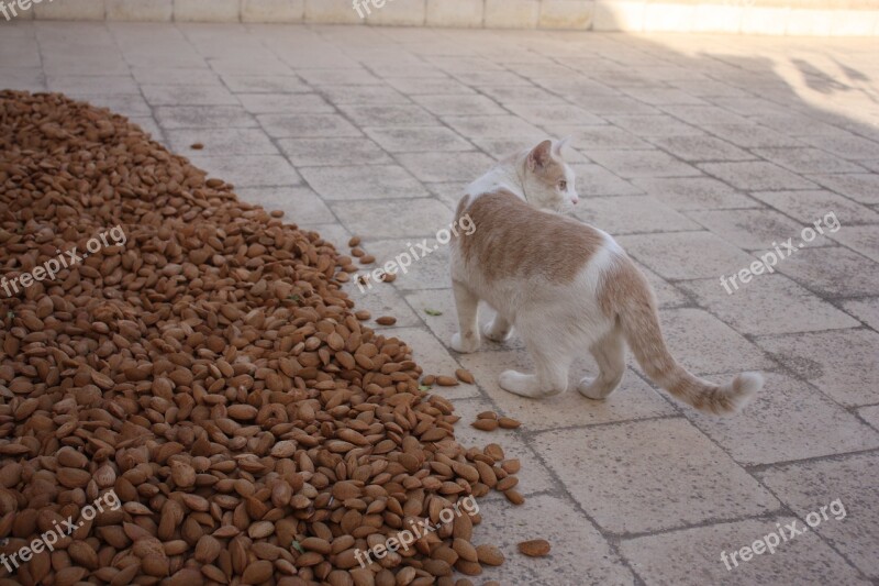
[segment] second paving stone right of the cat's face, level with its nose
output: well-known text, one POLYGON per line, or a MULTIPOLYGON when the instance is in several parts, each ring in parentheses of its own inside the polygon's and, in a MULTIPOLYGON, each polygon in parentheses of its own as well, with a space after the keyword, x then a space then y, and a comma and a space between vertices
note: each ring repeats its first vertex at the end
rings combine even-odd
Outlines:
POLYGON ((745 194, 711 177, 646 177, 632 181, 676 210, 756 208, 760 204, 745 194))

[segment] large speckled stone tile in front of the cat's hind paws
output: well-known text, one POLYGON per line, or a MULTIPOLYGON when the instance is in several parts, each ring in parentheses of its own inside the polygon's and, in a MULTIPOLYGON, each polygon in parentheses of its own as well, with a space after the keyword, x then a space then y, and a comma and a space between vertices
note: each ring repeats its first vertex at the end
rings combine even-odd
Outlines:
POLYGON ((534 447, 599 527, 617 534, 779 507, 685 419, 547 431, 535 436, 534 447))

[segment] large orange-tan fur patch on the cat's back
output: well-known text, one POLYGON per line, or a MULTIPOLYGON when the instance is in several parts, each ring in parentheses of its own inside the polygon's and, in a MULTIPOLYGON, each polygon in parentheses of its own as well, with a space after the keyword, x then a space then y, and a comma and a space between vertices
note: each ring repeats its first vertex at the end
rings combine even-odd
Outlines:
POLYGON ((464 215, 475 228, 456 239, 457 252, 488 280, 539 277, 564 285, 590 261, 619 250, 604 232, 538 210, 508 190, 465 196, 455 217, 464 215))

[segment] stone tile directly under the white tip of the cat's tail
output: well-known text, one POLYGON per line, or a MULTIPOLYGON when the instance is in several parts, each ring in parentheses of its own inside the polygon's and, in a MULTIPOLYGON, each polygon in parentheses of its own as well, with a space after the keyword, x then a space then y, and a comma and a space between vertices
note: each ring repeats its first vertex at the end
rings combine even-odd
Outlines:
POLYGON ((781 374, 765 376, 766 386, 743 416, 717 418, 693 410, 685 413, 744 465, 879 447, 879 433, 810 385, 781 374), (791 409, 792 405, 797 409, 791 409))

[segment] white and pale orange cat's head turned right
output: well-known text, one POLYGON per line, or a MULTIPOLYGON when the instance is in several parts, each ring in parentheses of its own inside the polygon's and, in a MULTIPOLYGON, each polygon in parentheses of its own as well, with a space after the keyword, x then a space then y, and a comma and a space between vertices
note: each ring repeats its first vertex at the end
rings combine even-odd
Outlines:
POLYGON ((561 158, 563 141, 546 140, 525 157, 522 191, 528 203, 543 210, 569 212, 580 201, 574 169, 561 158))

